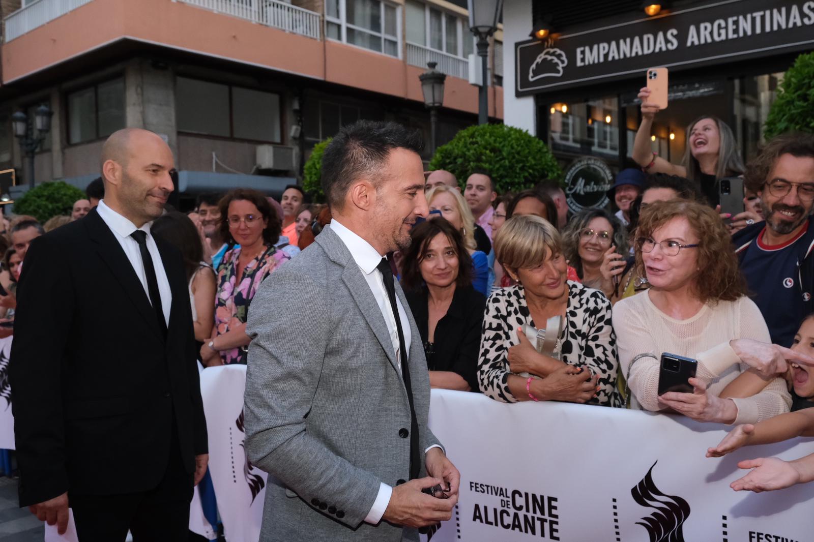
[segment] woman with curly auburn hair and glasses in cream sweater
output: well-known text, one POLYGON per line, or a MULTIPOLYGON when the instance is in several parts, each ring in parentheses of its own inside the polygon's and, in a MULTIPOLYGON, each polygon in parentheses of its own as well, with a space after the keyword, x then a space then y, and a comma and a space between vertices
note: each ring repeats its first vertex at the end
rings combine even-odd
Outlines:
POLYGON ((768 328, 746 297, 720 216, 685 200, 647 206, 639 219, 636 260, 650 290, 619 301, 613 325, 619 363, 639 407, 720 423, 754 423, 788 412, 783 378, 748 370, 771 365, 787 349, 765 345, 771 342, 768 328), (698 360, 696 378, 689 379, 693 393, 658 395, 663 352, 698 360), (746 389, 760 391, 745 396, 746 389))

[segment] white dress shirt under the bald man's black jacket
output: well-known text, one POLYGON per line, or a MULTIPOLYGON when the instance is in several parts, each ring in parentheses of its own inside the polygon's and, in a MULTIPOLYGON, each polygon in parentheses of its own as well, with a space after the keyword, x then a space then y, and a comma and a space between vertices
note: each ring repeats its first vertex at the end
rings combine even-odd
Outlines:
POLYGON ((150 234, 150 225, 152 222, 147 222, 147 224, 142 225, 141 228, 137 228, 129 218, 125 218, 125 216, 121 216, 112 208, 107 207, 104 203, 104 199, 99 201, 96 212, 99 213, 99 217, 107 224, 107 227, 111 229, 113 237, 116 238, 122 250, 125 251, 125 256, 127 256, 127 259, 130 261, 130 265, 133 266, 133 271, 136 272, 138 280, 141 281, 142 286, 144 286, 144 293, 147 294, 147 299, 150 299, 150 290, 147 287, 147 274, 144 272, 144 263, 142 262, 142 252, 138 248, 138 242, 130 237, 130 234, 137 229, 141 229, 147 234, 147 250, 150 251, 153 267, 155 268, 155 280, 158 281, 161 308, 164 310, 164 321, 166 321, 167 326, 169 326, 169 309, 173 304, 173 291, 169 288, 169 281, 167 279, 167 273, 164 271, 164 262, 161 261, 161 254, 158 251, 158 247, 155 246, 155 240, 150 234))

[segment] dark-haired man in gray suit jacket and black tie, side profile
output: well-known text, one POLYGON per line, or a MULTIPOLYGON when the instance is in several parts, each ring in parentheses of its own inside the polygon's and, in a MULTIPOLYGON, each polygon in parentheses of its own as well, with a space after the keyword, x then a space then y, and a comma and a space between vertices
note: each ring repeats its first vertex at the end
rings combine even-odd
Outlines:
POLYGON ((333 221, 252 301, 246 448, 272 474, 260 540, 418 540, 457 503, 420 334, 383 258, 427 216, 420 150, 394 123, 342 129, 322 157, 333 221))

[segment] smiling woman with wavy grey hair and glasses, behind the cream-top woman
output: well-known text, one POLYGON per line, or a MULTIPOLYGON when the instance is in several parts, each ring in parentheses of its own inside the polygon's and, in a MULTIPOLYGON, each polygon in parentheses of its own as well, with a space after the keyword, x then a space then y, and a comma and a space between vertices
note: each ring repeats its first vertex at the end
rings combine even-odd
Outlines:
POLYGON ((605 209, 584 209, 568 222, 562 245, 582 283, 610 297, 615 283, 602 277, 602 260, 608 251, 628 255, 628 232, 622 222, 605 209))

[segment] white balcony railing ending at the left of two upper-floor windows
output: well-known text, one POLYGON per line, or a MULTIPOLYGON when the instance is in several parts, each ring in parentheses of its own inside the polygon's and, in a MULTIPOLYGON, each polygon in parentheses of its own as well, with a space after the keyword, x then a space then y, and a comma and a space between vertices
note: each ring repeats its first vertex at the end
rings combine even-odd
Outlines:
POLYGON ((193 6, 265 24, 301 36, 320 38, 320 15, 279 0, 180 0, 193 6))

